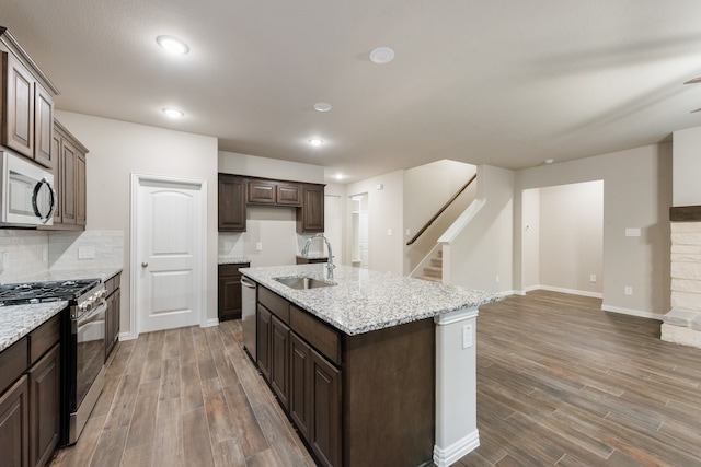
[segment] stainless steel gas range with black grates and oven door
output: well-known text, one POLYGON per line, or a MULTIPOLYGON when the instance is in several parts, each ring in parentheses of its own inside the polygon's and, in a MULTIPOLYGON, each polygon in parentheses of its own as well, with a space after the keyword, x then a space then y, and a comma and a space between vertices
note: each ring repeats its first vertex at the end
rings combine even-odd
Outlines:
POLYGON ((61 440, 73 444, 104 387, 106 290, 100 279, 0 287, 0 306, 68 301, 61 322, 61 440))

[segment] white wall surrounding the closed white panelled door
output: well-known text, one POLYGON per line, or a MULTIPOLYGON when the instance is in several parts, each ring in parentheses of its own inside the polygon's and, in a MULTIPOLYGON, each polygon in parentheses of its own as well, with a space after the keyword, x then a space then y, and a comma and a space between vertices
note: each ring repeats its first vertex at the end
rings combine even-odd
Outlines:
POLYGON ((120 331, 130 332, 130 174, 207 182, 207 318, 217 318, 217 139, 88 115, 56 117, 89 150, 88 230, 124 231, 120 331))

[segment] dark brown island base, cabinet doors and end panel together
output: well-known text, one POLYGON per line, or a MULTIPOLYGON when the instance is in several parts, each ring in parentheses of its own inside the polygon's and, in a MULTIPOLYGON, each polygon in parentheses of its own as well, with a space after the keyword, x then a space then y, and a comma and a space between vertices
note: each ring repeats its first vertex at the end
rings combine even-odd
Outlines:
POLYGON ((258 285, 257 366, 322 466, 420 466, 435 437, 433 319, 348 336, 258 285))

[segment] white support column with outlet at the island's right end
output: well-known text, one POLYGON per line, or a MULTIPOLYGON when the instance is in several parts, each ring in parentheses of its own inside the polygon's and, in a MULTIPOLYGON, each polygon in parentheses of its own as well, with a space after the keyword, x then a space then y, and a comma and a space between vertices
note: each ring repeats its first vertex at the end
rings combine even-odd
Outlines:
POLYGON ((436 444, 447 467, 480 445, 476 412, 478 308, 439 315, 436 323, 436 444))

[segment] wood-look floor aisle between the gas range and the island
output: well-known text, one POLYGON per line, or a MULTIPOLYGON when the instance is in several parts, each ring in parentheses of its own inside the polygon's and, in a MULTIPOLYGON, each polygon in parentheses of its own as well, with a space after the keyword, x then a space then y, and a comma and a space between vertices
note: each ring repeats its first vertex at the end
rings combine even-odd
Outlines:
POLYGON ((74 446, 51 467, 314 466, 240 346, 240 322, 119 342, 74 446))

